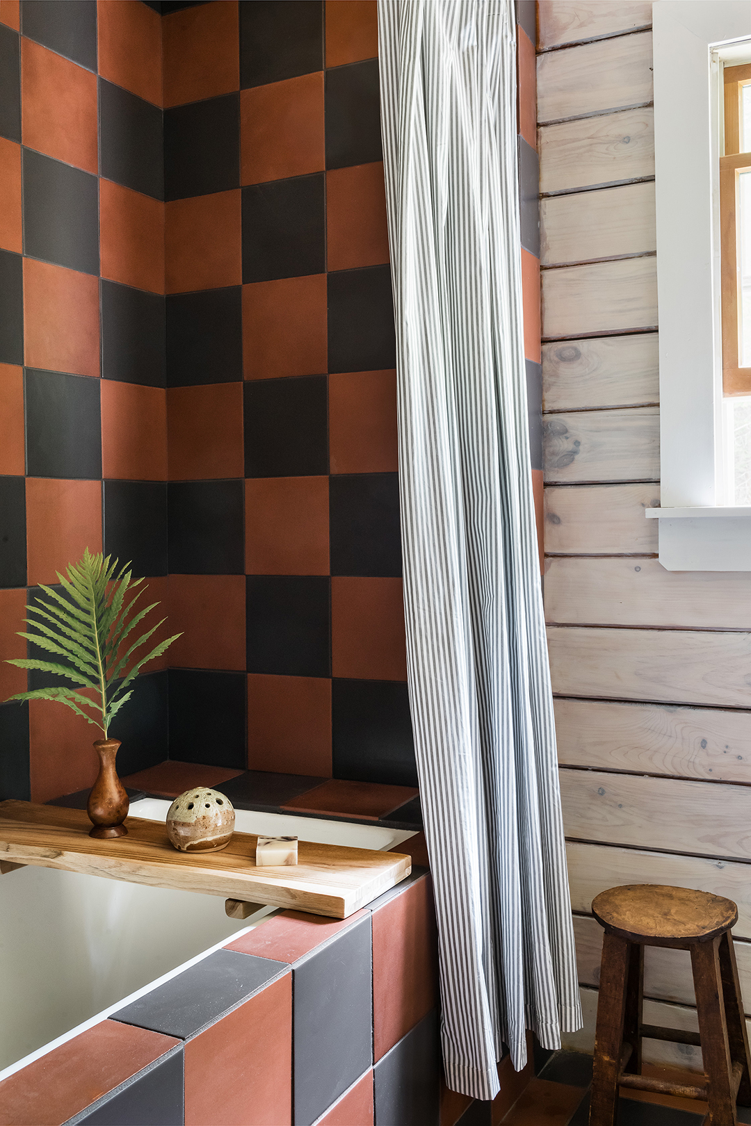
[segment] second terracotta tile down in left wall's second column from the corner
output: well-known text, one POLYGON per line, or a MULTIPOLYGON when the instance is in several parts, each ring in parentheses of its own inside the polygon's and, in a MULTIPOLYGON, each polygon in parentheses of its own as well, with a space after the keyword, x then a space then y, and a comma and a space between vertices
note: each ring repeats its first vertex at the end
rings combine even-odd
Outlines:
POLYGON ((99 280, 24 259, 24 358, 27 367, 99 376, 99 280))

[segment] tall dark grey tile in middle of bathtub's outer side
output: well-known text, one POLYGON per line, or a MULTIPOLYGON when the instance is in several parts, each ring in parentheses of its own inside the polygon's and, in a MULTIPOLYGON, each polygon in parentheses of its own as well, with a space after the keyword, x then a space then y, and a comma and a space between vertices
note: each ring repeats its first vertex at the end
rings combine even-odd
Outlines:
POLYGON ((295 1126, 311 1126, 373 1063, 372 964, 366 914, 293 967, 295 1126))

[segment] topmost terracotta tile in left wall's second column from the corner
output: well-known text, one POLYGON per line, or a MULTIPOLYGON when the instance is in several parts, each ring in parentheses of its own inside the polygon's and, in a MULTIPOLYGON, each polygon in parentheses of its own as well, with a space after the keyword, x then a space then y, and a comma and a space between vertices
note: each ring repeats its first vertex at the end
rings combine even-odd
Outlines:
POLYGON ((21 36, 21 136, 29 149, 99 171, 97 75, 21 36))

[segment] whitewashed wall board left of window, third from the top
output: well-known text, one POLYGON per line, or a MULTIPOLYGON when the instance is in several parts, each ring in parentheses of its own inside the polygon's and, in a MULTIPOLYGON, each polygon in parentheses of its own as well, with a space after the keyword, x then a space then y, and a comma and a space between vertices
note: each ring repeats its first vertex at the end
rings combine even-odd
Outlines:
POLYGON ((654 110, 622 109, 544 125, 537 151, 543 193, 654 176, 654 110))

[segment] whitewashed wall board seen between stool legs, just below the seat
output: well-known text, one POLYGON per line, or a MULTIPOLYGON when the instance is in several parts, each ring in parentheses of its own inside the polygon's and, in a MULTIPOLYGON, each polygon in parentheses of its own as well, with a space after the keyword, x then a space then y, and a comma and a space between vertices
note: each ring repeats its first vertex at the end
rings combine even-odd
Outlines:
MULTIPOLYGON (((574 915, 576 966, 582 985, 599 985, 602 957, 602 928, 597 919, 574 915)), ((735 959, 741 980, 741 994, 746 1013, 751 1015, 751 944, 735 940, 735 959)), ((694 1004, 691 956, 688 950, 669 950, 651 946, 644 950, 644 995, 694 1004)))

